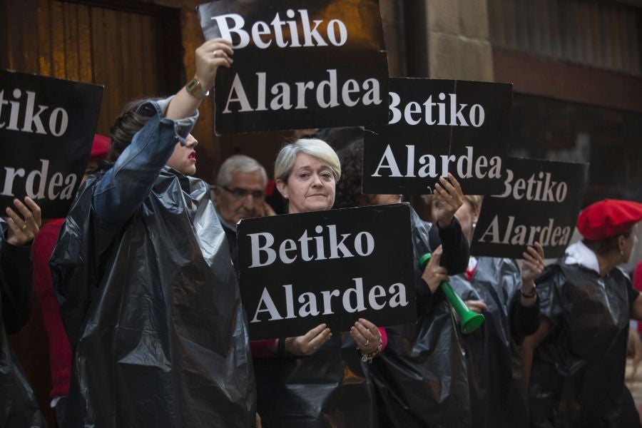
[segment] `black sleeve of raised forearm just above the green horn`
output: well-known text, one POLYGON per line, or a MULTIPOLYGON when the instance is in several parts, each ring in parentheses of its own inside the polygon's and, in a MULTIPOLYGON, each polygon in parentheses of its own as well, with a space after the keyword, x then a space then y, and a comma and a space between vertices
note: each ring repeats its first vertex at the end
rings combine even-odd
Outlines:
POLYGON ((437 228, 437 225, 433 225, 429 231, 429 240, 430 248, 434 249, 442 245, 444 253, 439 265, 448 270, 448 275, 457 275, 466 271, 470 248, 457 218, 453 218, 452 223, 446 228, 437 228))

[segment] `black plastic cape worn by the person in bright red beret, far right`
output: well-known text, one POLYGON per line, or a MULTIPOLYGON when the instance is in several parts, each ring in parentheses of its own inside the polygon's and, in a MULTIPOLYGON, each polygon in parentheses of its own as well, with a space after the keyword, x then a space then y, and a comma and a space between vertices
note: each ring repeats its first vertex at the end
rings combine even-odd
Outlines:
POLYGON ((562 261, 537 290, 553 330, 534 352, 532 425, 621 427, 631 280, 619 269, 601 278, 562 261))

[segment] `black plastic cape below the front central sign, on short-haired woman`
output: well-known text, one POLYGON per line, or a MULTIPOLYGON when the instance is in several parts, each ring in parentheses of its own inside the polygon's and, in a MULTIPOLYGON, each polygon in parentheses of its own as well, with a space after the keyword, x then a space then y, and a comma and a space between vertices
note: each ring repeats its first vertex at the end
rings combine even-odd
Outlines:
POLYGON ((366 366, 348 333, 335 333, 307 357, 255 358, 263 427, 379 427, 366 366))

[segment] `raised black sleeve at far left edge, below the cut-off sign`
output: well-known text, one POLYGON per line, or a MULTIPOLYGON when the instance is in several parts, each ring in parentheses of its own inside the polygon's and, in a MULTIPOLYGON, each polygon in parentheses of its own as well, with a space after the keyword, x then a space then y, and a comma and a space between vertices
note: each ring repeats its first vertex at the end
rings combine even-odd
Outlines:
POLYGON ((6 223, 0 220, 0 300, 2 318, 9 335, 29 320, 34 283, 31 281, 31 246, 16 247, 4 240, 6 223))

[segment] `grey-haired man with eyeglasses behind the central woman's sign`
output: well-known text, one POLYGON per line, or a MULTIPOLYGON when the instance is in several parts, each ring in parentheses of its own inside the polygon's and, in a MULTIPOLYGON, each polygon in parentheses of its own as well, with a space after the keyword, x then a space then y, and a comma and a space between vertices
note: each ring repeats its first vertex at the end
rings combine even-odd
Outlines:
POLYGON ((265 202, 267 173, 263 165, 245 155, 230 156, 216 177, 212 186, 215 206, 228 237, 232 262, 237 266, 236 223, 243 218, 275 215, 265 202))

